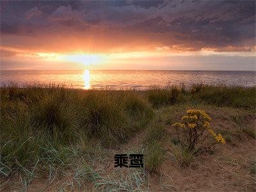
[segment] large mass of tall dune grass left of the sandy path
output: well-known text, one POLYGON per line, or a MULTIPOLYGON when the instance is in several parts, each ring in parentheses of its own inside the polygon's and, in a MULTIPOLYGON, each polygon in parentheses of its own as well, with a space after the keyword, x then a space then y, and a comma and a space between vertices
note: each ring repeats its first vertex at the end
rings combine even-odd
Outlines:
POLYGON ((153 115, 147 100, 136 93, 126 97, 123 92, 56 86, 2 88, 1 175, 33 170, 57 174, 81 154, 81 147, 76 147, 80 143, 115 147, 153 115))

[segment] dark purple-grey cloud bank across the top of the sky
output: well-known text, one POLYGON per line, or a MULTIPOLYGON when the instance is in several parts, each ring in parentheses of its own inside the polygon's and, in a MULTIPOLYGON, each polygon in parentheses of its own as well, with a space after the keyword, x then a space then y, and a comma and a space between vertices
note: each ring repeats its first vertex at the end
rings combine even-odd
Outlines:
POLYGON ((113 31, 109 46, 126 35, 181 51, 252 51, 255 1, 1 1, 3 35, 63 30, 113 31))

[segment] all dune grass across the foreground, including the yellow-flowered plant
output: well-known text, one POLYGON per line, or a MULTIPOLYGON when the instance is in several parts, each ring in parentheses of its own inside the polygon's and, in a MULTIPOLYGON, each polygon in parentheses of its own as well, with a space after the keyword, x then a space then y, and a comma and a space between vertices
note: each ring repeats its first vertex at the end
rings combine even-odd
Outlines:
MULTIPOLYGON (((87 182, 92 182, 97 189, 106 189, 106 186, 141 189, 144 171, 124 177, 124 184, 102 177, 90 160, 93 156, 99 158, 109 148, 121 147, 141 131, 146 172, 161 172, 163 161, 169 156, 180 165, 188 166, 198 155, 198 143, 204 140, 205 134, 201 132, 208 130, 208 134, 222 143, 232 143, 241 132, 255 138, 255 130, 244 125, 247 113, 253 113, 252 118, 255 115, 255 93, 255 88, 201 84, 192 88, 184 85, 165 89, 152 87, 145 91, 69 90, 51 84, 3 87, 0 98, 0 177, 3 182, 0 189, 9 180, 18 178, 26 190, 36 177, 47 178, 49 183, 64 178, 62 187, 68 189, 84 188, 87 182), (246 111, 243 116, 227 117, 241 132, 217 129, 221 135, 215 134, 209 127, 211 118, 202 110, 189 110, 181 123, 175 123, 191 106, 246 111), (187 137, 170 133, 171 125, 179 127, 180 132, 185 131, 187 137), (171 152, 166 149, 167 141, 171 143, 171 152)), ((250 172, 255 173, 254 170, 253 161, 250 172)))

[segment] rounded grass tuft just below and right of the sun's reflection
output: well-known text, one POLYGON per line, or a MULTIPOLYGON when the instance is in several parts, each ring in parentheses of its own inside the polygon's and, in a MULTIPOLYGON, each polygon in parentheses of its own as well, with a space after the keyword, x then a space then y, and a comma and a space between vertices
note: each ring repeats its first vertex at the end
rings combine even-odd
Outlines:
POLYGON ((124 102, 105 93, 92 92, 81 104, 81 131, 90 138, 99 138, 104 145, 127 140, 132 127, 125 113, 124 102))

